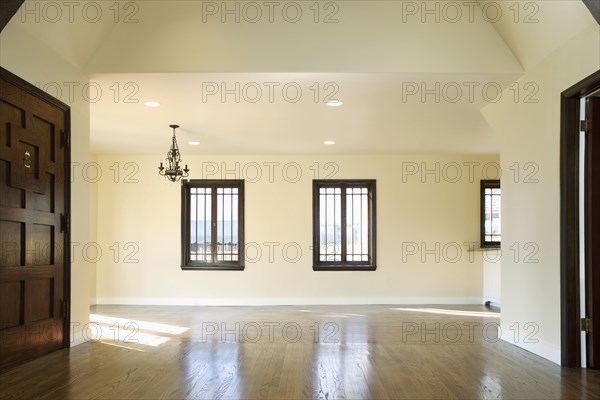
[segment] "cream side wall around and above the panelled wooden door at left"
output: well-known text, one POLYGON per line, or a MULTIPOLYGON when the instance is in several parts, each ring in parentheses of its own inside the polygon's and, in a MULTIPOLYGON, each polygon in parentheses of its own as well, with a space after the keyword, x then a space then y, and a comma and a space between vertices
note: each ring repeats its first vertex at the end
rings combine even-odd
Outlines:
MULTIPOLYGON (((65 88, 65 83, 78 82, 83 86, 89 80, 52 53, 41 43, 32 39, 22 30, 22 25, 9 23, 0 36, 0 65, 30 83, 47 87, 56 97, 52 88, 65 88)), ((85 165, 89 162, 90 112, 89 103, 83 96, 69 98, 66 94, 59 99, 71 107, 71 159, 85 165), (71 101, 72 100, 72 101, 71 101)), ((90 241, 90 195, 89 185, 80 177, 72 180, 71 195, 71 240, 88 243, 90 241)), ((71 323, 74 324, 72 343, 83 340, 81 328, 89 320, 89 263, 81 258, 71 264, 71 323)))

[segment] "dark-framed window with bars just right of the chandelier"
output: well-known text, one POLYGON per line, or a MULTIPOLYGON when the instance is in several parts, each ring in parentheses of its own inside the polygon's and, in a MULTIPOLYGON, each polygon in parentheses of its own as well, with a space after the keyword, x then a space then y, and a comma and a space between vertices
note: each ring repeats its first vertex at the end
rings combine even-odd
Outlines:
POLYGON ((181 196, 181 268, 244 269, 244 181, 189 180, 181 196))

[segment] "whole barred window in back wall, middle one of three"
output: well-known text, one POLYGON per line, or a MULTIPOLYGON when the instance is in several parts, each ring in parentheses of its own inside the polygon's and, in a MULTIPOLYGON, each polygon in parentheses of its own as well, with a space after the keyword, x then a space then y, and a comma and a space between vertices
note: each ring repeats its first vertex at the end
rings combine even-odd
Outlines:
POLYGON ((313 181, 313 269, 374 270, 375 181, 313 181))

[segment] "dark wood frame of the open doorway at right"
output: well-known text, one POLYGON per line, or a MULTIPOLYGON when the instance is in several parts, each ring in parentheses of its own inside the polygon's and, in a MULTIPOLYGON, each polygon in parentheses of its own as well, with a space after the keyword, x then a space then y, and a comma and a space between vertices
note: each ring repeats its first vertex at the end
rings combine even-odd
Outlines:
POLYGON ((561 365, 581 367, 579 307, 580 100, 600 89, 600 70, 561 93, 560 314, 561 365))

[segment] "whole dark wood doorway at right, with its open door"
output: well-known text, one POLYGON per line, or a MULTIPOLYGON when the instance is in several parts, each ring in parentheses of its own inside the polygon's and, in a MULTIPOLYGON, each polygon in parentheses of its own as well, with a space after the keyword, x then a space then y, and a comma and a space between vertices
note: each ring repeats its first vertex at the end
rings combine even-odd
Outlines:
POLYGON ((600 368, 600 71, 561 96, 561 365, 600 368))

